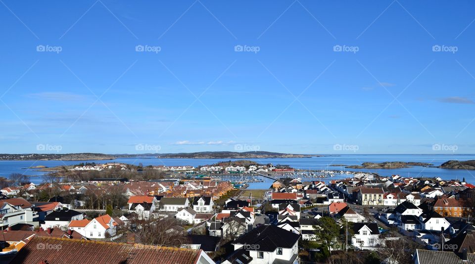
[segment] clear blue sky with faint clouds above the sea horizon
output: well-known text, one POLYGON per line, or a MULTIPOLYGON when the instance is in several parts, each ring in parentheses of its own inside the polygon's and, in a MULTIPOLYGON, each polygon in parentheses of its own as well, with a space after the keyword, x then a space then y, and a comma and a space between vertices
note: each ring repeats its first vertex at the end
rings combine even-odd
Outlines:
POLYGON ((0 152, 475 153, 474 5, 2 0, 0 152))

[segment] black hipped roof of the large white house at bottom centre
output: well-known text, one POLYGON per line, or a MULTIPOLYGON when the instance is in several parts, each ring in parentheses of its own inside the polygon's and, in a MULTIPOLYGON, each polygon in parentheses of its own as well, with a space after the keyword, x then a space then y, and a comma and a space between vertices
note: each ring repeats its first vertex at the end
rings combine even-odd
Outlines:
POLYGON ((273 252, 277 248, 291 248, 300 238, 299 234, 276 225, 261 225, 236 239, 233 244, 259 245, 260 251, 273 252))

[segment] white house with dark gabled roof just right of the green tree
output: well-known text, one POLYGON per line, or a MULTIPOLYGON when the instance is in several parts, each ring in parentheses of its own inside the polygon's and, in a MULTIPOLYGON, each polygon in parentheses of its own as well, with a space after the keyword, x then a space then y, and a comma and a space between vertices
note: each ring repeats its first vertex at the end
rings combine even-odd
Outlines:
POLYGON ((380 243, 380 230, 377 223, 354 223, 354 236, 351 241, 358 249, 375 249, 380 243))

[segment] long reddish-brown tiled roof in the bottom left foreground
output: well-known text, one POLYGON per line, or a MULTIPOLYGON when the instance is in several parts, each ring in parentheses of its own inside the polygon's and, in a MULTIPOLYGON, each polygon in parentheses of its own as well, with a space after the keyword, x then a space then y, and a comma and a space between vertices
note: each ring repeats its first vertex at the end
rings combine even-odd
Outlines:
POLYGON ((200 251, 182 248, 34 237, 11 263, 194 264, 199 254, 200 251))

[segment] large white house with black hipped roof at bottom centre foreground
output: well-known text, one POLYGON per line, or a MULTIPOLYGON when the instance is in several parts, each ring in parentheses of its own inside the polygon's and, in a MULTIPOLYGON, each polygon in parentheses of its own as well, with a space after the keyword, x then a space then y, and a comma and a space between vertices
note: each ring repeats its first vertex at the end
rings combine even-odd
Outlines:
POLYGON ((234 263, 237 257, 250 260, 249 264, 289 263, 298 264, 299 234, 275 225, 261 225, 232 242, 234 254, 224 263, 234 263))

